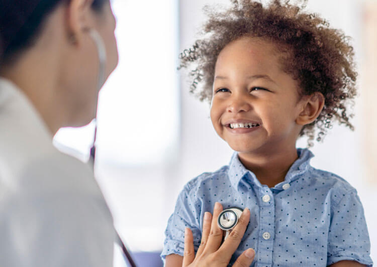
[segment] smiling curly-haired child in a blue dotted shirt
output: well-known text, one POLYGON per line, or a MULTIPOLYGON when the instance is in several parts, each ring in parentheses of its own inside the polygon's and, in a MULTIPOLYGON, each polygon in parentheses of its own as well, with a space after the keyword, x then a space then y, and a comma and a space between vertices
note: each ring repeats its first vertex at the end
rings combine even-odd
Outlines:
POLYGON ((199 95, 212 101, 215 130, 236 152, 229 166, 186 184, 161 256, 172 266, 172 254, 183 255, 185 227, 198 248, 203 215, 218 201, 251 214, 230 264, 251 247, 252 266, 371 265, 356 190, 311 167, 308 149, 296 149, 298 137, 313 145, 335 121, 353 128, 357 74, 348 38, 287 2, 232 3, 210 14, 207 39, 181 54, 181 67, 196 63, 191 89, 204 82, 199 95))

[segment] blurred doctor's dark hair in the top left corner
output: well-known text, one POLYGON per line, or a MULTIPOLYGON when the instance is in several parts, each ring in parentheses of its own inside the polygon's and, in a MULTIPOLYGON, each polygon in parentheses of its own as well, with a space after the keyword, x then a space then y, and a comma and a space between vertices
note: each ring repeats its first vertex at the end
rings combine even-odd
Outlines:
MULTIPOLYGON (((38 38, 43 22, 59 5, 70 0, 0 0, 0 65, 7 64, 38 38)), ((94 0, 100 13, 109 0, 94 0)))

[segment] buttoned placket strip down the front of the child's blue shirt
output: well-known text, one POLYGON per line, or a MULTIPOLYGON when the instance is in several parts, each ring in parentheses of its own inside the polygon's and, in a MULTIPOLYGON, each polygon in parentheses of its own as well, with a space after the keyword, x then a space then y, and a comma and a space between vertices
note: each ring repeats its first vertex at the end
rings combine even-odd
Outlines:
POLYGON ((274 197, 267 186, 258 191, 259 200, 259 233, 258 233, 258 267, 272 266, 272 248, 274 240, 274 197))

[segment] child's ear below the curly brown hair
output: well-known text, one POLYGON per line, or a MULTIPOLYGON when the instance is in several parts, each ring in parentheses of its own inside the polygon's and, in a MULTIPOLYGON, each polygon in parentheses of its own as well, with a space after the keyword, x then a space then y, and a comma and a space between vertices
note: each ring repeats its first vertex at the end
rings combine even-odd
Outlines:
POLYGON ((320 92, 304 96, 302 110, 296 118, 296 123, 306 125, 312 123, 321 113, 325 104, 325 97, 320 92))

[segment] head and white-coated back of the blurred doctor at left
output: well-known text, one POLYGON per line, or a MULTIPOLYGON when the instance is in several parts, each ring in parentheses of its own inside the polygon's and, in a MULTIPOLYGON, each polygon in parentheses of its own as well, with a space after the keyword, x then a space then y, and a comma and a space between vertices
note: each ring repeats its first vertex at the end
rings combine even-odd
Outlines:
POLYGON ((0 0, 0 266, 112 266, 113 219, 89 166, 52 146, 96 115, 118 62, 109 0, 0 0), (97 39, 96 39, 97 38, 97 39))

